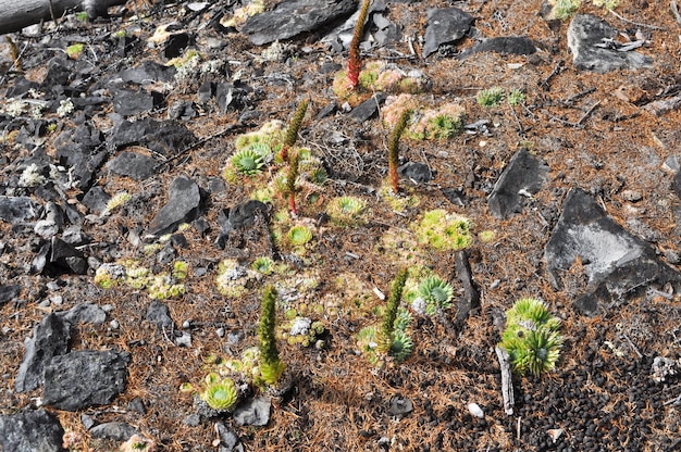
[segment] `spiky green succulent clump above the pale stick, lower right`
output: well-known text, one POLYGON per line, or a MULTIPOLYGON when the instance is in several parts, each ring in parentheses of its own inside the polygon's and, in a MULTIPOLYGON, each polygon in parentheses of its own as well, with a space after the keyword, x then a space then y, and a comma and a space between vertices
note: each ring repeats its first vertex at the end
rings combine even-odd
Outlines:
POLYGON ((506 312, 500 347, 519 374, 538 376, 556 367, 562 347, 560 321, 537 299, 522 298, 506 312))

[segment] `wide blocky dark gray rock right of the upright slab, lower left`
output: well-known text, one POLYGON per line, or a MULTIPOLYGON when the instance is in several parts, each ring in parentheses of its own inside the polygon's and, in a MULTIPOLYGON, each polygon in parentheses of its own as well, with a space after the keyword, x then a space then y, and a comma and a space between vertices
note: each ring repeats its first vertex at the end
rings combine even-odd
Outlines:
POLYGON ((65 411, 108 404, 125 390, 129 360, 125 352, 92 350, 54 356, 45 367, 42 402, 65 411))

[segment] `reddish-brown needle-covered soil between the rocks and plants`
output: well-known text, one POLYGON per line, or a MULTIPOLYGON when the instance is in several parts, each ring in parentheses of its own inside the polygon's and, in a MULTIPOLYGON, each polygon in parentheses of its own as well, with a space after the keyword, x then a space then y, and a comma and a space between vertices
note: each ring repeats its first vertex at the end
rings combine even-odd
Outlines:
MULTIPOLYGON (((640 50, 654 58, 655 68, 604 75, 578 72, 572 67, 567 48, 568 22, 549 27, 537 14, 540 2, 511 0, 468 2, 462 8, 474 13, 475 26, 485 37, 527 35, 543 43, 546 50, 532 56, 476 54, 465 61, 438 55, 425 61, 411 56, 396 60, 404 67, 420 68, 432 78, 433 89, 428 98, 433 103, 459 99, 466 106, 469 122, 490 120, 491 130, 486 137, 461 135, 445 141, 404 139, 400 142, 401 158, 429 164, 436 177, 419 186, 401 180, 403 192, 417 196, 420 203, 399 214, 377 196, 387 174, 389 133, 381 122, 371 120, 357 124, 343 116, 313 120, 321 108, 334 101, 330 90, 334 74, 322 74, 320 67, 330 61, 345 65, 344 58, 312 40, 311 43, 297 40, 290 42, 293 58, 288 62, 259 62, 253 54, 262 49, 248 45, 236 35, 226 37, 232 43, 226 48, 228 55, 223 58, 242 63, 234 65, 232 71, 243 68, 244 80, 262 89, 253 95, 260 116, 248 121, 247 127, 240 131, 255 129, 268 118, 289 121, 298 100, 307 96, 311 99, 311 111, 304 121, 299 145, 319 152, 327 164, 336 163, 329 168, 331 178, 324 185, 321 202, 300 202, 300 221, 309 219, 314 233, 305 265, 293 276, 270 276, 262 281, 264 285, 314 275, 319 287, 308 292, 305 302, 336 307, 333 314, 323 311, 313 315, 329 331, 326 346, 317 350, 280 342, 282 359, 287 364, 286 379, 293 381, 295 390, 284 400, 275 399, 267 427, 238 427, 233 425, 230 416, 220 418, 234 429, 247 450, 377 450, 379 437, 389 439, 391 450, 405 451, 552 450, 558 447, 561 450, 591 450, 595 447, 593 450, 658 451, 671 450, 665 448, 673 447, 674 441, 678 445, 681 438, 679 407, 673 403, 664 404, 679 394, 678 380, 659 384, 659 389, 654 391, 655 400, 637 400, 636 393, 642 392, 635 392, 636 388, 630 386, 641 385, 641 391, 645 392, 651 386, 652 357, 679 356, 681 312, 678 296, 668 300, 642 293, 604 310, 602 315, 585 317, 572 305, 574 296, 583 289, 579 268, 574 268, 574 280, 567 281, 561 291, 552 289, 544 271, 544 246, 560 213, 562 199, 572 187, 592 191, 608 214, 634 234, 655 233, 657 238, 653 244, 660 252, 679 251, 673 212, 680 203, 671 188, 672 175, 663 170, 663 162, 677 152, 681 117, 678 111, 657 117, 642 106, 679 90, 680 26, 670 14, 667 2, 623 0, 616 9, 622 17, 664 29, 623 22, 589 3, 585 1, 580 12, 599 15, 631 36, 636 29, 649 33, 649 41, 640 50), (494 18, 498 16, 503 20, 494 18), (520 66, 511 68, 509 63, 520 63, 520 66), (562 70, 556 72, 559 64, 562 70), (272 80, 269 76, 278 73, 290 75, 293 83, 268 85, 268 80, 272 80), (523 90, 525 106, 511 108, 503 103, 497 108, 481 108, 475 102, 475 95, 492 86, 500 86, 507 91, 523 90), (329 149, 322 137, 330 129, 350 137, 350 145, 329 149), (486 197, 505 165, 522 147, 549 165, 549 180, 529 200, 521 214, 499 221, 490 214, 486 197), (461 189, 467 204, 451 204, 442 194, 445 188, 461 189), (637 202, 623 199, 622 192, 628 189, 640 191, 642 199, 637 202), (357 196, 369 203, 370 218, 366 225, 343 228, 319 221, 325 202, 340 194, 357 196), (493 242, 475 240, 469 250, 473 278, 482 294, 481 309, 455 330, 448 329, 447 323, 437 317, 414 322, 413 355, 403 364, 373 368, 356 353, 355 335, 361 327, 377 321, 375 307, 383 302, 372 290, 377 288, 387 293, 397 271, 413 262, 409 250, 381 244, 385 240, 389 242, 388 237, 408 241, 412 234, 409 225, 431 209, 446 209, 471 218, 475 234, 484 230, 496 234, 493 242), (641 230, 632 229, 632 218, 640 221, 641 230), (506 416, 494 352, 499 331, 493 318, 524 296, 546 300, 550 311, 564 321, 561 330, 566 344, 555 372, 542 378, 515 378, 517 412, 506 416), (593 371, 593 363, 600 365, 598 375, 593 371), (640 377, 632 377, 632 373, 640 377), (556 407, 552 393, 560 388, 573 388, 574 395, 573 399, 561 399, 556 407), (411 399, 414 405, 413 412, 400 420, 391 418, 387 413, 391 398, 397 394, 411 399), (604 394, 609 401, 604 402, 598 412, 585 413, 574 409, 583 398, 604 394), (470 416, 469 402, 483 407, 484 420, 470 416), (584 434, 583 429, 587 428, 585 419, 597 423, 605 413, 616 411, 618 403, 628 406, 629 415, 610 418, 608 429, 599 424, 600 436, 594 438, 600 440, 592 443, 592 448, 579 442, 583 438, 580 432, 584 434), (550 413, 549 405, 554 406, 550 413), (623 440, 621 435, 609 432, 612 427, 626 432, 629 423, 646 423, 647 430, 637 430, 635 438, 624 435, 623 440), (519 425, 521 428, 517 430, 519 425), (550 443, 548 428, 565 431, 558 444, 550 443)), ((446 2, 393 4, 388 17, 404 27, 405 37, 416 38, 423 34, 426 8, 436 5, 443 7, 446 2)), ((177 11, 168 8, 162 15, 152 17, 164 23, 174 14, 177 11)), ((145 26, 139 34, 147 38, 151 32, 151 27, 145 26)), ((199 42, 210 33, 200 33, 199 42)), ((471 45, 470 39, 465 39, 460 47, 471 45)), ((367 55, 368 60, 398 54, 393 49, 409 54, 406 42, 367 55)), ((140 58, 162 60, 153 52, 146 52, 140 58)), ((193 99, 197 86, 189 84, 186 88, 174 89, 168 103, 193 99)), ((208 138, 236 124, 240 113, 203 114, 187 125, 198 137, 208 138)), ((154 115, 164 118, 165 112, 154 115)), ((100 121, 106 123, 104 114, 100 121)), ((145 258, 126 240, 127 230, 149 224, 166 202, 166 188, 178 175, 189 175, 202 187, 210 178, 221 177, 236 135, 209 139, 203 146, 169 162, 161 174, 143 183, 141 187, 102 173, 98 184, 110 193, 127 189, 153 196, 144 206, 143 215, 132 217, 117 213, 104 224, 90 225, 87 231, 96 242, 119 242, 121 258, 146 259, 152 264, 152 260, 145 258)), ((214 221, 220 209, 249 199, 252 189, 265 184, 268 177, 228 185, 225 191, 210 197, 205 215, 213 226, 209 237, 203 238, 191 228, 184 233, 190 246, 178 249, 178 259, 189 263, 193 269, 208 268, 208 272, 203 276, 189 277, 186 296, 165 302, 177 325, 185 319, 191 321, 190 348, 175 347, 156 326, 144 319, 149 304, 144 292, 127 288, 101 290, 92 285, 92 275, 59 278, 66 281, 60 292, 64 303, 50 309, 67 309, 83 302, 111 304, 110 316, 120 323, 117 329, 108 325, 77 326, 72 349, 115 348, 126 350, 133 356, 127 390, 113 404, 86 411, 97 422, 129 423, 153 438, 160 450, 216 450, 211 442, 216 438, 214 422, 218 419, 203 420, 197 427, 184 425, 183 419, 194 413, 195 407, 191 395, 181 393, 178 388, 183 382, 198 385, 201 381, 208 372, 203 362, 206 356, 238 354, 244 348, 257 343, 261 286, 238 299, 218 293, 213 284, 216 264, 234 250, 224 251, 213 246, 218 230, 214 221), (215 334, 219 327, 240 331, 244 338, 231 349, 225 339, 215 334), (134 398, 144 400, 147 414, 126 409, 134 398)), ((77 194, 71 193, 72 197, 77 194)), ((280 203, 275 210, 285 205, 283 200, 275 203, 280 203)), ((123 212, 133 211, 129 208, 123 212)), ((0 237, 12 243, 9 225, 0 225, 0 237)), ((240 250, 239 258, 250 264, 267 252, 267 247, 248 244, 247 249, 240 250)), ((21 246, 15 248, 22 249, 21 246)), ((423 265, 448 278, 455 290, 460 291, 454 255, 422 248, 413 252, 423 265)), ((0 259, 2 265, 21 275, 33 255, 28 252, 24 255, 5 253, 0 259)), ((12 388, 23 356, 23 341, 46 313, 37 302, 46 298, 46 291, 39 288, 49 279, 26 276, 22 280, 26 282, 24 298, 29 302, 20 306, 5 305, 1 311, 0 327, 7 331, 2 336, 0 356, 2 413, 35 403, 34 398, 40 395, 39 391, 17 394, 12 388)), ((456 312, 450 311, 447 315, 454 316, 456 312)), ((83 436, 74 451, 117 447, 90 439, 81 424, 81 413, 58 414, 66 430, 83 436)))

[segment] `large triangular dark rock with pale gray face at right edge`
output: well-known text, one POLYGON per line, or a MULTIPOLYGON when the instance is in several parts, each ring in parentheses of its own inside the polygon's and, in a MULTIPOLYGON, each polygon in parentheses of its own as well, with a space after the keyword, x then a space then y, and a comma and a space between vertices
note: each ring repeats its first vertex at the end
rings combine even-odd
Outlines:
POLYGON ((621 299, 651 284, 681 284, 681 274, 661 262, 655 249, 606 215, 584 190, 572 189, 544 250, 552 285, 561 287, 560 273, 580 259, 587 277, 589 297, 580 303, 595 312, 595 298, 621 299))

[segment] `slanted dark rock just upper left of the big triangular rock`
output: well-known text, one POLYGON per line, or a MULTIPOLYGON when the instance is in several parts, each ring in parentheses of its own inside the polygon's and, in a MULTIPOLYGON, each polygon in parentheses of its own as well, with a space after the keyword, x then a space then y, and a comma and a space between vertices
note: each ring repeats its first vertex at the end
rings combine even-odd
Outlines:
POLYGON ((497 218, 510 218, 522 212, 525 197, 540 191, 548 175, 548 166, 527 149, 510 160, 490 194, 490 212, 497 218))

